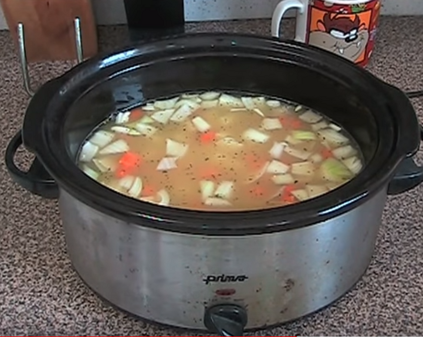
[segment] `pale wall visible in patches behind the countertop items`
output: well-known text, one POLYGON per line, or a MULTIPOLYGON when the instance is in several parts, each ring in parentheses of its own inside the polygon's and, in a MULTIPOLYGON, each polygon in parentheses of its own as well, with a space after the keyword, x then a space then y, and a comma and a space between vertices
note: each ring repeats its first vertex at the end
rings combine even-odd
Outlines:
MULTIPOLYGON (((30 0, 26 0, 30 1, 30 0)), ((91 0, 99 25, 126 23, 123 0, 91 0)), ((142 1, 142 0, 140 0, 142 1)), ((184 0, 187 21, 271 17, 279 0, 184 0)), ((423 0, 382 0, 382 14, 423 15, 423 0)), ((7 29, 0 10, 0 29, 7 29)))

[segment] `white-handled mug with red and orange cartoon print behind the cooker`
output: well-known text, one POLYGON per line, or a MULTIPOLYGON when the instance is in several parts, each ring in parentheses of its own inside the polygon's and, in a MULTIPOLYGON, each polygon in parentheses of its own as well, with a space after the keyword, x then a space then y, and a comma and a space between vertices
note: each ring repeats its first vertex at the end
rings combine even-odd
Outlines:
POLYGON ((373 51, 380 0, 282 0, 272 17, 272 36, 288 9, 297 9, 295 39, 365 66, 373 51))

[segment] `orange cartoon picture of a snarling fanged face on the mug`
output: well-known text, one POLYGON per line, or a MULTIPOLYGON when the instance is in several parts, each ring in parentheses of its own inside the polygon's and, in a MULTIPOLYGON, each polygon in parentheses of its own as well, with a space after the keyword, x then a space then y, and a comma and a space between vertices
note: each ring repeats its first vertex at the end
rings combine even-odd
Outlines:
POLYGON ((310 9, 310 45, 331 51, 354 63, 365 60, 372 10, 346 14, 341 10, 334 13, 315 7, 310 9))

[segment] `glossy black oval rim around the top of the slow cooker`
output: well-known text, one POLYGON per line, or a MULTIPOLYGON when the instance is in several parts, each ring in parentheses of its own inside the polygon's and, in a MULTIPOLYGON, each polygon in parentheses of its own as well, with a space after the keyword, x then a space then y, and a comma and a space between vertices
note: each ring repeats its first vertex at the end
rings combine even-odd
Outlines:
MULTIPOLYGON (((77 198, 82 203, 91 206, 99 212, 104 212, 110 216, 117 217, 129 223, 139 224, 143 227, 186 234, 214 236, 264 234, 321 223, 324 220, 356 208, 377 192, 382 191, 384 187, 387 187, 401 159, 417 151, 418 140, 416 141, 416 145, 410 148, 411 136, 408 137, 407 142, 403 142, 403 139, 400 139, 407 138, 407 135, 401 134, 401 137, 398 137, 401 131, 401 118, 397 117, 397 114, 392 111, 393 102, 387 97, 389 96, 387 92, 389 86, 365 70, 355 67, 349 61, 333 56, 331 53, 324 52, 318 48, 306 46, 298 42, 276 40, 261 36, 201 33, 183 34, 172 36, 165 40, 151 41, 142 46, 136 46, 135 49, 140 48, 143 53, 153 54, 156 50, 160 54, 160 47, 166 43, 172 43, 173 47, 180 47, 184 45, 184 42, 189 42, 187 44, 188 46, 184 45, 183 47, 185 50, 184 55, 189 56, 189 45, 195 42, 193 39, 202 40, 201 44, 203 46, 209 45, 210 42, 228 43, 228 48, 231 45, 231 41, 236 41, 237 46, 242 45, 244 50, 248 50, 250 46, 249 56, 251 57, 257 57, 257 50, 273 50, 275 52, 281 52, 282 50, 286 52, 283 48, 289 47, 289 53, 294 53, 298 57, 298 64, 301 66, 320 66, 322 67, 321 71, 326 71, 327 69, 324 69, 324 67, 327 67, 329 64, 335 69, 338 67, 337 72, 334 72, 333 76, 342 76, 341 73, 343 73, 344 76, 354 78, 354 81, 358 81, 367 87, 363 89, 374 91, 374 99, 380 100, 383 102, 381 104, 386 106, 386 112, 389 112, 391 120, 394 120, 393 123, 397 126, 397 130, 391 130, 393 124, 388 123, 388 118, 386 120, 379 120, 380 124, 378 128, 386 128, 386 135, 379 135, 379 140, 383 138, 385 141, 383 147, 379 142, 374 158, 366 164, 362 173, 357 175, 349 183, 321 197, 274 209, 242 212, 206 212, 164 207, 137 201, 96 183, 82 173, 69 156, 63 155, 63 153, 66 153, 65 146, 63 145, 63 135, 60 139, 54 139, 52 135, 47 134, 46 119, 44 119, 42 121, 41 131, 39 131, 39 136, 42 139, 41 144, 39 143, 33 147, 29 145, 28 147, 34 150, 38 159, 57 181, 60 188, 63 188, 74 198, 77 198), (377 162, 378 160, 379 162, 377 162)), ((110 59, 111 55, 127 53, 128 50, 133 49, 134 47, 124 48, 113 54, 102 54, 70 70, 60 79, 61 85, 55 93, 56 99, 60 100, 60 97, 58 98, 59 94, 66 95, 69 87, 77 85, 78 76, 79 78, 83 78, 86 74, 98 71, 100 68, 99 64, 102 60, 106 58, 110 59)), ((242 54, 244 55, 245 52, 242 54)), ((161 57, 161 59, 159 56, 155 58, 154 62, 169 59, 169 56, 161 57)), ((327 73, 325 75, 327 76, 327 73)), ((51 103, 47 108, 47 114, 49 110, 52 110, 51 103)), ((404 121, 402 121, 402 124, 404 124, 404 121)))

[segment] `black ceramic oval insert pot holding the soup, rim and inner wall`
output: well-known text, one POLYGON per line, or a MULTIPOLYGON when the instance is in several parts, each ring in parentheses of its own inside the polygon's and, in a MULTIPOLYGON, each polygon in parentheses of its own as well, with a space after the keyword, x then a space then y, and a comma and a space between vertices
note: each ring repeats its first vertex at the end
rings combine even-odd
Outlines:
POLYGON ((102 54, 48 82, 27 108, 23 141, 61 189, 101 212, 167 231, 247 235, 308 226, 364 203, 386 189, 398 164, 417 152, 420 134, 406 95, 344 58, 298 42, 202 33, 102 54), (210 89, 283 97, 321 111, 354 136, 365 169, 302 203, 220 213, 137 201, 96 183, 75 164, 81 142, 111 111, 210 89))

